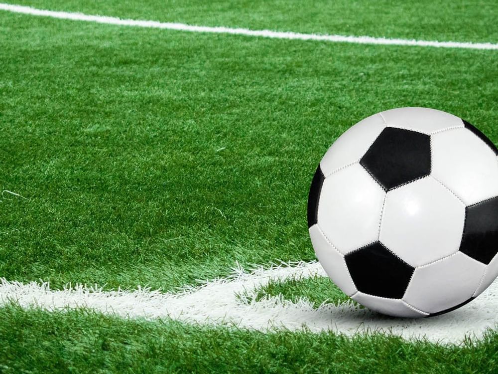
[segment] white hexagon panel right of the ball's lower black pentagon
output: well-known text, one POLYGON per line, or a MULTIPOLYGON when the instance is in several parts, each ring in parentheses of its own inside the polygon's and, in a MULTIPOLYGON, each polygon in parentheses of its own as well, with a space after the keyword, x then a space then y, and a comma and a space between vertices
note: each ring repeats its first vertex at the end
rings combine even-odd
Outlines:
POLYGON ((462 252, 416 268, 403 300, 433 314, 447 312, 473 299, 486 265, 462 252))

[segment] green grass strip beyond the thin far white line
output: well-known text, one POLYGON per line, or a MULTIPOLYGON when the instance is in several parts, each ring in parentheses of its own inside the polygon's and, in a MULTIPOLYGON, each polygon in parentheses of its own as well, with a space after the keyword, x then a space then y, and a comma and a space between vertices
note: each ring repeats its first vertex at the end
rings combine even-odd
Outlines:
POLYGON ((209 26, 310 33, 498 42, 497 5, 486 1, 61 1, 16 0, 33 7, 209 26))

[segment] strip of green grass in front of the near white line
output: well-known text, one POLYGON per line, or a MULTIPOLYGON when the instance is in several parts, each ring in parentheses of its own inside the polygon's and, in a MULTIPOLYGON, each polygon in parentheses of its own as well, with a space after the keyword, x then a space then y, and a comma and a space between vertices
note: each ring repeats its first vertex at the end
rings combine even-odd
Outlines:
POLYGON ((389 334, 260 333, 0 309, 2 373, 496 373, 498 334, 475 344, 389 334))

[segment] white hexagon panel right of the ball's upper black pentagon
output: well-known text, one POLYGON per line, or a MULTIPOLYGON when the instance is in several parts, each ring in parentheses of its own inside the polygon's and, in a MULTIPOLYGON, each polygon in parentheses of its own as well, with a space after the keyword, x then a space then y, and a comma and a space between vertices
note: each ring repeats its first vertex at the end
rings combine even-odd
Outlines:
POLYGON ((466 205, 498 195, 497 155, 474 131, 459 128, 434 134, 431 147, 431 175, 466 205))

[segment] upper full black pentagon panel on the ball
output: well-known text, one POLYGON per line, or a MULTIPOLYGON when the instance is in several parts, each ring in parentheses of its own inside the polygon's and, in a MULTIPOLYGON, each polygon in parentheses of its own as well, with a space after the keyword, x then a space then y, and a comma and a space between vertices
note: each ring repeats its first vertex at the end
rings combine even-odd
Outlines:
POLYGON ((431 172, 430 136, 386 127, 360 164, 385 190, 428 176, 431 172))

